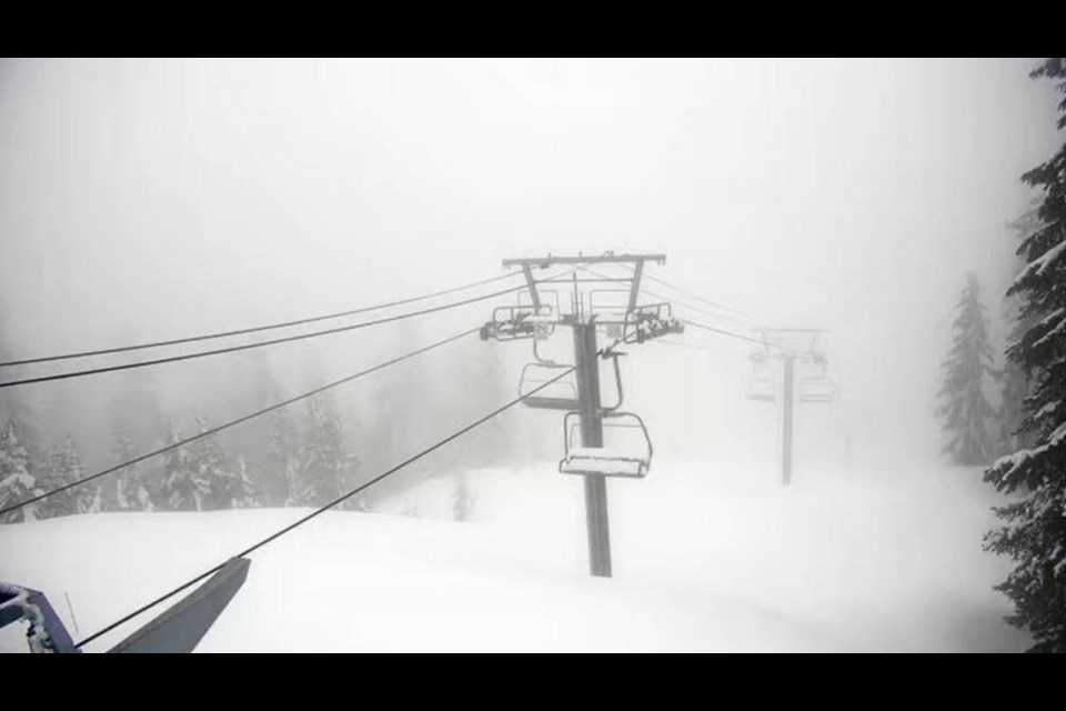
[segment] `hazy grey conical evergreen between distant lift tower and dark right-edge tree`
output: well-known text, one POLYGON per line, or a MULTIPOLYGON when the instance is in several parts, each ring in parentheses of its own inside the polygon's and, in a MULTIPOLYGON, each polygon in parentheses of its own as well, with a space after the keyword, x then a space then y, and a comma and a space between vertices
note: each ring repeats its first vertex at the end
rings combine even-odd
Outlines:
POLYGON ((995 451, 990 427, 996 410, 988 402, 986 390, 998 373, 992 362, 988 317, 974 273, 966 274, 952 330, 954 339, 943 363, 944 385, 937 408, 948 438, 944 451, 958 464, 987 464, 995 451))

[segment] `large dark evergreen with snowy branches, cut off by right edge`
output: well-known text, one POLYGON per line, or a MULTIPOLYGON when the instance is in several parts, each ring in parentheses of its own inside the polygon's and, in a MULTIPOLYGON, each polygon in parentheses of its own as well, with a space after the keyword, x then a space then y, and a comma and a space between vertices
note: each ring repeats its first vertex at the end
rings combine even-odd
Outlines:
MULTIPOLYGON (((1066 93, 1066 59, 1048 59, 1033 76, 1066 93)), ((1066 99, 1058 108, 1062 130, 1066 99)), ((1030 651, 1066 652, 1066 143, 1023 180, 1043 192, 1040 227, 1018 248, 1025 268, 1007 291, 1022 299, 1020 318, 1032 322, 1007 357, 1029 378, 1022 432, 1033 444, 985 473, 1013 495, 996 509, 1004 524, 985 545, 1017 563, 997 589, 1015 604, 1008 620, 1032 633, 1030 651)))

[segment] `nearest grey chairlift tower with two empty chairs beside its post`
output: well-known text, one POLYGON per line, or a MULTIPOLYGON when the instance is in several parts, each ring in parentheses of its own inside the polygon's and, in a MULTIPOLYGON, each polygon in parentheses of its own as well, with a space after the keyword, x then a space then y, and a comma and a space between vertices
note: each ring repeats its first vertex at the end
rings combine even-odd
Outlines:
POLYGON ((504 268, 522 269, 529 290, 520 292, 519 303, 496 308, 492 320, 481 330, 482 340, 533 341, 534 361, 522 369, 519 380, 521 395, 563 372, 573 371, 573 378, 564 377, 529 394, 523 402, 530 408, 566 413, 559 471, 584 477, 589 562, 592 574, 601 578, 611 577, 606 477, 643 478, 652 462, 652 442, 644 421, 632 412, 620 410, 623 391, 619 358, 625 353, 615 349, 682 332, 683 327, 671 314, 668 303, 638 303, 645 263, 663 264, 665 261, 664 254, 615 256, 612 252, 601 257, 505 259, 504 268), (534 269, 556 264, 572 264, 576 269, 570 279, 537 281, 534 278, 534 269), (630 269, 621 278, 577 276, 576 271, 582 271, 582 267, 592 264, 623 264, 630 269), (605 286, 586 287, 593 283, 605 286), (569 310, 561 309, 559 291, 546 284, 572 288, 569 310), (539 343, 551 340, 560 328, 573 330, 573 365, 544 358, 537 350, 539 343), (596 346, 597 331, 603 331, 610 340, 602 351, 596 346), (601 360, 610 360, 614 370, 617 400, 611 407, 604 407, 600 398, 601 360), (604 444, 605 430, 611 433, 607 445, 604 444), (575 432, 580 434, 580 444, 574 441, 575 432))

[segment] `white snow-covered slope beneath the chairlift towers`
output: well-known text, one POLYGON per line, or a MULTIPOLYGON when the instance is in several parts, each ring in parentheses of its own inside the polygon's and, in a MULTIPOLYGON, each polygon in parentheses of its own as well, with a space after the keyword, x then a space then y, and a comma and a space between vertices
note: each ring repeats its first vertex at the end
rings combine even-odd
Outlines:
MULTIPOLYGON (((609 485, 614 578, 592 579, 581 480, 469 474, 381 512, 330 512, 255 553, 198 651, 1019 651, 980 550, 973 470, 773 473, 656 461, 609 485), (406 515, 404 515, 404 513, 406 515), (420 518, 412 518, 418 513, 420 518)), ((86 637, 300 510, 71 517, 0 527, 0 580, 86 637)), ((145 618, 147 620, 148 618, 145 618)), ((143 620, 141 620, 142 622, 143 620)), ((133 627, 88 651, 102 651, 133 627)))

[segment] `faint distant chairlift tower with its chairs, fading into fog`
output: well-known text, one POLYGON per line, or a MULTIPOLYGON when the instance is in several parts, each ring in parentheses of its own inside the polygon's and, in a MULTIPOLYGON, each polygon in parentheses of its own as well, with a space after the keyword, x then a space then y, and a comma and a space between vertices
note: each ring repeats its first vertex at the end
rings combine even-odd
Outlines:
POLYGON ((764 343, 752 351, 752 381, 747 397, 776 403, 782 401, 781 482, 792 482, 793 410, 796 398, 796 364, 800 364, 800 402, 832 402, 836 391, 827 373, 828 363, 818 347, 817 329, 755 329, 764 343), (782 363, 776 380, 770 365, 782 363))

